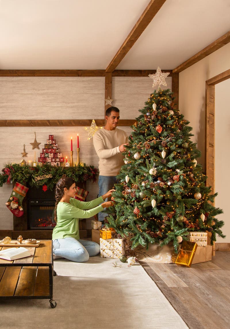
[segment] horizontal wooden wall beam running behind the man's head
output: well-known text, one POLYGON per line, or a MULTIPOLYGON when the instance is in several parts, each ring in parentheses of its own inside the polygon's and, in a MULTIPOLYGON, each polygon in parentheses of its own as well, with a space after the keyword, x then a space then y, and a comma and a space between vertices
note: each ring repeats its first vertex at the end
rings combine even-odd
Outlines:
MULTIPOLYGON (((104 126, 104 119, 95 119, 97 126, 104 126)), ((119 126, 128 127, 136 120, 120 120, 119 126)), ((82 120, 0 120, 0 127, 58 127, 58 126, 91 126, 91 119, 82 120)))

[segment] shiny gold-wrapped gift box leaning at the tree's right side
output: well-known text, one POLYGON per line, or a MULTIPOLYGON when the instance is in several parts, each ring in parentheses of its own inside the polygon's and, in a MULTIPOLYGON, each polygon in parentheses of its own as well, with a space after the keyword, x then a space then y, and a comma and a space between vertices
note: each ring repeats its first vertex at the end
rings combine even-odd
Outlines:
POLYGON ((197 249, 196 242, 183 241, 176 258, 175 264, 179 266, 190 267, 193 263, 195 251, 197 249))

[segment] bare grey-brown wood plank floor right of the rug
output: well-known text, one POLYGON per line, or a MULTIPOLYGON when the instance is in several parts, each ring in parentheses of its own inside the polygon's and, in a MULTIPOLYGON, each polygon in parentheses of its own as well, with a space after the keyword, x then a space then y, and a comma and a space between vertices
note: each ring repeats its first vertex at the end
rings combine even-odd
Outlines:
POLYGON ((230 328, 230 251, 190 268, 140 263, 190 329, 230 328))

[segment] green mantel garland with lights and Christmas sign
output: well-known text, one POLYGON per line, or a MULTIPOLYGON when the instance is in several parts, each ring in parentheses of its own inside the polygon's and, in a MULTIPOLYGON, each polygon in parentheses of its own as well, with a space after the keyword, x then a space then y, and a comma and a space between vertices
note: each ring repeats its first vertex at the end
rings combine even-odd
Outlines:
POLYGON ((46 185, 49 190, 53 190, 55 184, 64 174, 67 177, 72 177, 76 182, 86 182, 87 180, 96 182, 98 170, 93 165, 88 166, 83 163, 73 167, 56 167, 49 164, 37 165, 36 167, 6 164, 2 169, 2 174, 0 174, 0 187, 4 183, 9 184, 11 180, 21 184, 27 183, 27 186, 30 187, 46 185))

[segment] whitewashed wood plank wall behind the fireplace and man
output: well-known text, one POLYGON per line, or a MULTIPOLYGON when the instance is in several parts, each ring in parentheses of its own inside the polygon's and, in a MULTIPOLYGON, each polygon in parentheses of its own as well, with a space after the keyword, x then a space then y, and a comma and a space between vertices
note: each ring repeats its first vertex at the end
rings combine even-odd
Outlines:
MULTIPOLYGON (((166 79, 172 88, 172 78, 166 79)), ((0 77, 1 119, 104 119, 104 77, 0 77)), ((135 119, 138 109, 152 93, 149 77, 113 77, 112 105, 120 109, 121 119, 135 119)), ((129 135, 130 127, 122 127, 129 135)), ((98 157, 93 141, 87 140, 83 127, 0 127, 0 169, 6 163, 19 163, 23 158, 23 144, 27 157, 36 159, 49 135, 54 135, 62 156, 70 155, 70 139, 73 138, 73 159, 77 160, 77 134, 80 139, 80 161, 98 167, 98 157), (32 150, 36 132, 40 149, 32 150)), ((97 197, 97 183, 88 183, 87 200, 97 197)), ((12 185, 0 188, 0 230, 13 229, 13 216, 5 202, 10 197, 12 185)), ((20 217, 18 218, 20 220, 20 217)), ((88 227, 90 229, 90 222, 88 227)))

